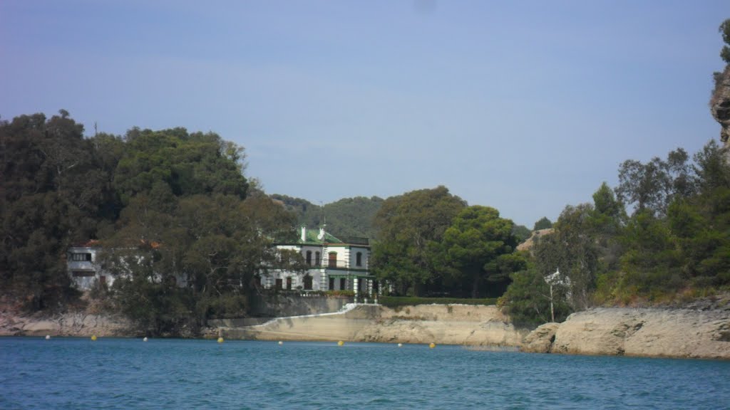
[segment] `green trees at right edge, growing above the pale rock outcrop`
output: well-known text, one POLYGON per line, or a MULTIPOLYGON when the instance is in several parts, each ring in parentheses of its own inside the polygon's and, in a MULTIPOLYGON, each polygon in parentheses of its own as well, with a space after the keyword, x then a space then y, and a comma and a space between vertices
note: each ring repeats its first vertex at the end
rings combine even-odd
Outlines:
POLYGON ((730 166, 714 141, 694 155, 692 190, 672 196, 666 214, 637 209, 616 238, 620 266, 599 278, 596 300, 668 301, 723 287, 730 274, 730 166))

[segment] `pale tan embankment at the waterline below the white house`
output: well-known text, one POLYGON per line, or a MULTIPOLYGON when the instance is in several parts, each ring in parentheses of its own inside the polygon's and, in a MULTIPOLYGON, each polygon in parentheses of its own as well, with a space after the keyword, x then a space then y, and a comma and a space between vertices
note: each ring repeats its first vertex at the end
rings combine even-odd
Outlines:
POLYGON ((496 306, 350 306, 334 314, 280 317, 263 325, 218 328, 228 339, 376 341, 518 347, 515 329, 496 306))

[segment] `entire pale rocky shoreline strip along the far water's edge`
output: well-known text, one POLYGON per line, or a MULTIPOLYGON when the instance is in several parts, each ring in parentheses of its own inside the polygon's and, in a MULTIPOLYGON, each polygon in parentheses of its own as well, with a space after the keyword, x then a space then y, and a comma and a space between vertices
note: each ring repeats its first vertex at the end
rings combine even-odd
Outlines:
MULTIPOLYGON (((683 308, 594 308, 534 330, 515 327, 496 306, 358 305, 332 314, 281 317, 261 325, 209 323, 200 337, 371 341, 504 347, 523 352, 730 359, 730 303, 683 308)), ((0 310, 0 336, 134 337, 123 317, 88 312, 0 310)), ((193 336, 193 335, 191 335, 193 336)))

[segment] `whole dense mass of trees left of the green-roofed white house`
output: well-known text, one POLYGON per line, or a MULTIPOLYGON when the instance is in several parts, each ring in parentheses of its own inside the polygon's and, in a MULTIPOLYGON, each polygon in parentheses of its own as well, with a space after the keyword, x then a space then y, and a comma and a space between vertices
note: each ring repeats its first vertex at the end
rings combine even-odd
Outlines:
POLYGON ((240 314, 253 276, 280 263, 272 241, 294 234, 291 212, 247 196, 245 152, 217 134, 86 138, 61 110, 0 123, 0 148, 0 283, 33 309, 74 295, 66 250, 98 240, 110 297, 141 328, 240 314))

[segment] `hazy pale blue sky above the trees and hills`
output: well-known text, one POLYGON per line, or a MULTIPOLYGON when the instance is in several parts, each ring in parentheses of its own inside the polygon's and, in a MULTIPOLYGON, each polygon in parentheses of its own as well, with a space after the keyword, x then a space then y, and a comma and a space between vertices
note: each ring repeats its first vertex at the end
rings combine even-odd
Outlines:
POLYGON ((730 1, 0 1, 0 118, 213 131, 266 193, 445 185, 532 228, 718 139, 730 1))

